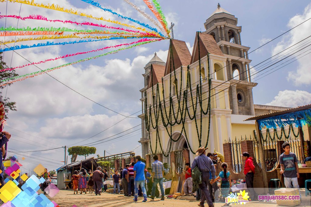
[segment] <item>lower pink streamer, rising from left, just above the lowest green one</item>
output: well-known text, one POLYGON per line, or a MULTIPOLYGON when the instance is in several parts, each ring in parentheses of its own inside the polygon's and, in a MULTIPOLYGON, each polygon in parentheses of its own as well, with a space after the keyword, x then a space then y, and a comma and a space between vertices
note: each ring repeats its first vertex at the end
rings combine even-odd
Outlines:
POLYGON ((101 50, 104 50, 104 49, 109 49, 109 48, 113 48, 113 47, 121 47, 121 46, 126 46, 126 45, 132 45, 132 44, 136 44, 136 43, 140 43, 140 42, 146 42, 146 41, 153 41, 153 40, 152 39, 140 39, 140 40, 138 40, 136 42, 132 42, 132 43, 123 43, 123 44, 114 45, 114 46, 107 46, 107 47, 103 47, 103 48, 100 48, 100 49, 91 50, 91 51, 87 51, 87 52, 76 52, 76 53, 73 53, 73 54, 67 54, 67 55, 56 57, 56 58, 47 59, 47 60, 44 60, 44 61, 33 62, 33 63, 29 63, 29 64, 26 64, 26 65, 20 65, 20 66, 14 67, 14 68, 5 68, 3 70, 0 70, 0 72, 7 71, 7 70, 11 71, 11 70, 15 70, 17 68, 23 68, 23 67, 26 67, 26 66, 29 66, 29 65, 38 65, 38 64, 45 63, 45 62, 48 62, 48 61, 55 61, 55 60, 58 60, 58 59, 62 59, 62 58, 65 58, 65 57, 71 57, 71 56, 75 56, 75 55, 87 54, 87 53, 90 53, 90 52, 97 52, 97 51, 101 51, 101 50))

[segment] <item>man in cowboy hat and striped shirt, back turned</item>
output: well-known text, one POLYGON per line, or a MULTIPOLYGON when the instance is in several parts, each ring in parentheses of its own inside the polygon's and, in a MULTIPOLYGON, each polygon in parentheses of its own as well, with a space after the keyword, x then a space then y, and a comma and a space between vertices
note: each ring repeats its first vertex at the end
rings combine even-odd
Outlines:
POLYGON ((214 164, 211 160, 211 158, 207 157, 205 155, 205 151, 208 148, 204 148, 203 146, 200 146, 197 149, 196 155, 198 155, 196 158, 194 158, 193 163, 192 163, 192 168, 194 169, 195 167, 198 167, 200 172, 202 173, 202 183, 199 184, 199 187, 202 191, 202 196, 201 196, 201 202, 198 204, 198 206, 204 207, 204 202, 205 200, 207 201, 207 204, 209 207, 214 206, 211 195, 208 192, 208 182, 210 178, 210 171, 212 174, 212 180, 215 179, 215 167, 214 164))

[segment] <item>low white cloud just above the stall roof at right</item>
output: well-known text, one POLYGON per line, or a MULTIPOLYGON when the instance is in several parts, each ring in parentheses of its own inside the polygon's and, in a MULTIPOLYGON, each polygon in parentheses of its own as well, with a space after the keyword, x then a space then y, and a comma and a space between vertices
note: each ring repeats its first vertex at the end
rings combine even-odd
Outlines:
POLYGON ((284 107, 297 107, 304 106, 311 103, 311 93, 307 91, 279 91, 276 97, 266 105, 271 106, 284 106, 284 107))

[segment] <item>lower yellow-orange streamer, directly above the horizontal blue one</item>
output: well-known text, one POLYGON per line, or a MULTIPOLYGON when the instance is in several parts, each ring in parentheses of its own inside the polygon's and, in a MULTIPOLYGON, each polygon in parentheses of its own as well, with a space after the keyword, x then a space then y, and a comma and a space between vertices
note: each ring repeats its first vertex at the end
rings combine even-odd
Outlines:
POLYGON ((17 43, 17 42, 23 42, 23 41, 32 41, 32 40, 44 40, 44 39, 66 39, 66 38, 79 38, 79 39, 86 39, 86 38, 90 38, 90 39, 102 39, 102 40, 110 40, 110 39, 114 39, 118 37, 119 39, 127 39, 127 38, 146 38, 146 37, 153 37, 153 36, 149 36, 149 35, 129 35, 129 36, 124 36, 124 35, 119 35, 119 36, 92 36, 92 35, 87 35, 87 36, 78 36, 75 34, 65 34, 65 35, 44 35, 41 37, 28 37, 28 38, 18 38, 16 40, 12 39, 12 40, 3 40, 2 43, 0 43, 0 45, 3 44, 9 44, 9 43, 17 43))

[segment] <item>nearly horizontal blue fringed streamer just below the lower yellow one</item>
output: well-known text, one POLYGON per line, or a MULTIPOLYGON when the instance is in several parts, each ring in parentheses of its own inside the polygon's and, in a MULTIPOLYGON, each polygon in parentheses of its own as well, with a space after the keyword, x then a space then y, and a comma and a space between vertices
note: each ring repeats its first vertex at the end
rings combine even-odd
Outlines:
MULTIPOLYGON (((111 37, 111 38, 106 38, 106 39, 89 39, 89 40, 80 40, 80 41, 70 41, 70 42, 61 42, 61 43, 54 43, 54 42, 46 42, 46 43, 38 43, 38 44, 33 44, 33 45, 16 45, 14 47, 6 47, 4 49, 0 48, 0 52, 6 52, 10 50, 20 50, 20 49, 26 49, 26 48, 31 48, 31 47, 44 47, 44 46, 50 46, 50 45, 67 45, 67 44, 75 44, 75 43, 89 43, 89 42, 97 42, 97 41, 103 41, 103 40, 112 40, 112 39, 133 39, 133 38, 144 38, 144 37, 111 37)), ((150 38, 150 37, 148 37, 150 38)))

